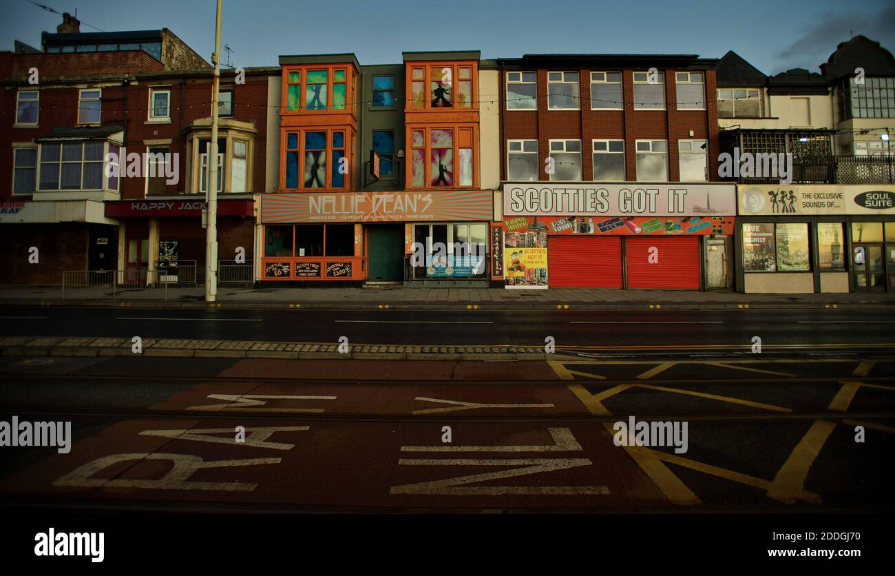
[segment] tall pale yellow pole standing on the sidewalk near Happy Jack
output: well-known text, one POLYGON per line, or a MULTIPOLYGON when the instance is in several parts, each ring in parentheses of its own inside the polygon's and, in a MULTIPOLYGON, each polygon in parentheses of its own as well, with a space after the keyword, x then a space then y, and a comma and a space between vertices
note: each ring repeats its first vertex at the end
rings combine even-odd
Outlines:
POLYGON ((211 142, 209 142, 209 182, 207 185, 208 228, 205 230, 205 301, 217 299, 217 99, 220 98, 221 0, 217 0, 215 21, 215 77, 211 84, 211 142))

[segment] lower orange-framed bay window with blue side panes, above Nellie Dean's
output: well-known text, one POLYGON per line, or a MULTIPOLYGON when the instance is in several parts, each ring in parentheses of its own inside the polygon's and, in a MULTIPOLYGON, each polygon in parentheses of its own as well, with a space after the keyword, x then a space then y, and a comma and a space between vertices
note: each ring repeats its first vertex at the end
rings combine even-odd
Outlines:
POLYGON ((286 133, 286 188, 345 188, 348 173, 344 130, 315 128, 286 133), (344 173, 343 173, 344 172, 344 173), (299 180, 301 175, 301 180, 299 180))

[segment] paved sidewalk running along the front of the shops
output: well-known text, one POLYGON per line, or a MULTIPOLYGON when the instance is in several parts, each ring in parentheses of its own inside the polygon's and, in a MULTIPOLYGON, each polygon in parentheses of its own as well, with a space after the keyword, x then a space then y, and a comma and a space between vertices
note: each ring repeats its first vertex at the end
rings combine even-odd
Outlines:
MULTIPOLYGON (((170 288, 115 294, 104 288, 0 287, 0 305, 133 305, 205 307, 203 288, 170 288)), ((219 288, 216 307, 233 308, 824 308, 895 306, 893 293, 740 294, 692 290, 601 288, 219 288)))

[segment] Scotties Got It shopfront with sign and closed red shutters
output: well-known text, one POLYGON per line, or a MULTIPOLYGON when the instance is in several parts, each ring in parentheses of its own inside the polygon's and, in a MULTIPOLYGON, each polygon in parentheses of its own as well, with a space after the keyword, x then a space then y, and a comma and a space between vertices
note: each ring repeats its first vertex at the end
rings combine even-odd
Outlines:
POLYGON ((729 288, 735 186, 504 185, 507 288, 729 288))

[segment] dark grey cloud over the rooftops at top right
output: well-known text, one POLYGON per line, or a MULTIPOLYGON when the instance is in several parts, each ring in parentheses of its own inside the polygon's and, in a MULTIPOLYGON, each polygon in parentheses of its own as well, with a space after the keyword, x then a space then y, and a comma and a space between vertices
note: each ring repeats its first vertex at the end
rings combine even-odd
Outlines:
POLYGON ((895 46, 895 5, 879 13, 826 13, 814 27, 805 31, 795 42, 774 55, 777 72, 789 68, 806 68, 818 72, 818 65, 826 62, 840 42, 849 38, 849 31, 876 40, 889 50, 895 46))

